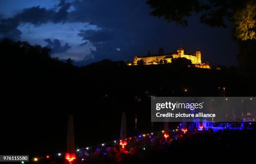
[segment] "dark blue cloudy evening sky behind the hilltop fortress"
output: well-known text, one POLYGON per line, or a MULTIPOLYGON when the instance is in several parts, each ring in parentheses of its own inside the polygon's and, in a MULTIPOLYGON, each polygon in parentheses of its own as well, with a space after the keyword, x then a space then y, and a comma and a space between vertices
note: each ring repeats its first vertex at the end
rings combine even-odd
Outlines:
POLYGON ((238 48, 230 28, 209 27, 200 15, 188 27, 149 15, 146 0, 0 0, 0 38, 27 40, 52 48, 51 56, 72 58, 76 65, 109 58, 132 61, 135 55, 177 50, 203 62, 237 66, 238 48))

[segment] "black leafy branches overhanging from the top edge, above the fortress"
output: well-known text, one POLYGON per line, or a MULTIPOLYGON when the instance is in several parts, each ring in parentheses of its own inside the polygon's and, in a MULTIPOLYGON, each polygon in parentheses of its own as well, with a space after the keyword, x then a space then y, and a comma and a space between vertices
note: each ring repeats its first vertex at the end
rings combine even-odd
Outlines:
POLYGON ((225 18, 233 20, 234 13, 244 8, 251 0, 148 0, 146 3, 154 10, 150 13, 164 17, 169 22, 187 26, 188 16, 202 13, 201 22, 210 26, 227 27, 225 18))

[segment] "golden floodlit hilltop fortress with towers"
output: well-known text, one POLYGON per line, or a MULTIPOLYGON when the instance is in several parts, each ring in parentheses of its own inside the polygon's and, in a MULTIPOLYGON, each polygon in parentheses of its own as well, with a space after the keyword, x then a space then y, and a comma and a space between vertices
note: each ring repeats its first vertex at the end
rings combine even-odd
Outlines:
POLYGON ((184 50, 182 46, 180 45, 179 49, 177 50, 177 53, 162 53, 163 49, 160 48, 158 55, 147 55, 147 56, 135 56, 133 60, 134 65, 138 65, 142 62, 144 65, 150 65, 150 64, 162 64, 162 63, 172 63, 172 59, 174 58, 187 58, 188 60, 191 60, 192 64, 194 64, 197 68, 209 68, 209 63, 202 63, 201 61, 201 51, 197 50, 195 55, 192 54, 184 54, 184 50))

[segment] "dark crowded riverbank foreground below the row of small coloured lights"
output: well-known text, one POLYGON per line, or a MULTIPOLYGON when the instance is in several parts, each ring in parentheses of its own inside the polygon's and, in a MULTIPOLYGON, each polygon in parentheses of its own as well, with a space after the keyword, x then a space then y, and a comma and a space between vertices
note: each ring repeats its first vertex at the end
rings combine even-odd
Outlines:
MULTIPOLYGON (((195 134, 188 131, 187 134, 171 132, 170 137, 165 139, 159 132, 156 135, 146 135, 128 138, 128 145, 122 151, 118 144, 91 150, 82 149, 77 153, 74 164, 158 164, 172 162, 211 162, 236 160, 253 161, 255 148, 254 130, 220 130, 200 131, 195 134)), ((63 158, 42 159, 31 161, 40 164, 67 163, 63 158)))

